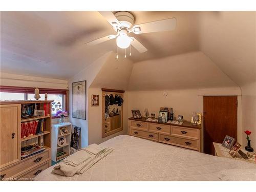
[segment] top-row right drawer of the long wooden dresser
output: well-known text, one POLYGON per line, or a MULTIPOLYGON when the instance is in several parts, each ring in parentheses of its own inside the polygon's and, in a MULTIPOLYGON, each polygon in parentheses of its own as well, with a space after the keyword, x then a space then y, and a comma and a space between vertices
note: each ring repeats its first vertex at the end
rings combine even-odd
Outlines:
POLYGON ((191 139, 199 139, 199 130, 181 126, 170 126, 170 134, 176 136, 187 137, 191 139))

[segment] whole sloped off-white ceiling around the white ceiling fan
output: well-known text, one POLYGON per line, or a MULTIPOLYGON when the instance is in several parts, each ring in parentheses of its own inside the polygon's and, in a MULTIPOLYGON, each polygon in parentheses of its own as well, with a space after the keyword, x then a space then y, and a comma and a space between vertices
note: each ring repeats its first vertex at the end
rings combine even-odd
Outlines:
MULTIPOLYGON (((126 62, 134 62, 132 73, 129 69, 124 75, 127 79, 131 73, 132 89, 159 89, 164 84, 173 89, 242 86, 255 81, 255 12, 132 14, 135 24, 177 18, 174 31, 134 35, 148 51, 140 54, 132 49, 131 61, 126 62), (197 53, 197 58, 190 52, 197 53)), ((97 46, 84 45, 113 33, 96 11, 1 12, 1 72, 69 79, 105 53, 115 53, 114 39, 97 46)), ((123 56, 122 51, 119 55, 123 56)))

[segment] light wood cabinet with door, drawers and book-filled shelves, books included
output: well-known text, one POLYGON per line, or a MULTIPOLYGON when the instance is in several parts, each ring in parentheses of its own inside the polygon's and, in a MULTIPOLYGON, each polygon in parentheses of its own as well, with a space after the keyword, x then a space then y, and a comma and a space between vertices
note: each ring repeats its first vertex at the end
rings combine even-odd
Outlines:
POLYGON ((51 166, 52 102, 0 101, 0 180, 31 179, 51 166), (31 106, 26 118, 22 118, 27 115, 24 106, 31 106), (44 115, 34 116, 33 109, 45 111, 44 115), (33 145, 34 151, 22 153, 22 147, 27 145, 33 145))

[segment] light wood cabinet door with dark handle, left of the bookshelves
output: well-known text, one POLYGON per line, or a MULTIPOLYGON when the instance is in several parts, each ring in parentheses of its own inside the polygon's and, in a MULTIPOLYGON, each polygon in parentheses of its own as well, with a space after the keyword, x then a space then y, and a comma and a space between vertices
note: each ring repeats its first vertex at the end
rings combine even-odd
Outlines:
POLYGON ((20 159, 20 104, 0 105, 0 167, 20 159))

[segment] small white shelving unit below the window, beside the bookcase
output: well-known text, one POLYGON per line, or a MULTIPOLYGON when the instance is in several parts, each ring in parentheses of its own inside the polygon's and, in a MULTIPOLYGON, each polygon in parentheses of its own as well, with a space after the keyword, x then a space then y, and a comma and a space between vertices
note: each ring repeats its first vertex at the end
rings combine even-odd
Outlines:
POLYGON ((52 160, 54 162, 62 160, 70 155, 70 140, 71 140, 71 132, 72 132, 72 124, 61 123, 61 124, 53 124, 52 126, 52 160), (61 133, 62 129, 66 129, 67 133, 61 133), (63 137, 66 138, 66 144, 59 146, 58 140, 63 137), (57 157, 57 153, 65 152, 61 156, 57 157))

